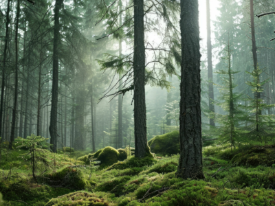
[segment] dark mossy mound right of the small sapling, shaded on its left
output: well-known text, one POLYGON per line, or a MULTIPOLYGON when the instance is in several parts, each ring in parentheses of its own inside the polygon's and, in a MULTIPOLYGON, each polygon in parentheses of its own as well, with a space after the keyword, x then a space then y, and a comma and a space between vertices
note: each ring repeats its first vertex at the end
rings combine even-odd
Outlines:
POLYGON ((63 168, 57 172, 46 174, 45 177, 41 177, 42 179, 49 185, 76 188, 78 190, 83 190, 90 185, 96 185, 93 181, 88 181, 81 170, 74 167, 63 168))

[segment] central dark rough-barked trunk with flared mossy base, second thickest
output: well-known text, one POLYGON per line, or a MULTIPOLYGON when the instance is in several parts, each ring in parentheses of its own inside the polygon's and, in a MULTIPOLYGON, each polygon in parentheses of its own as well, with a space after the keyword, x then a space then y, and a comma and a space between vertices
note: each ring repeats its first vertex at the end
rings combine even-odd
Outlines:
POLYGON ((145 47, 144 47, 144 1, 134 0, 134 122, 135 157, 152 157, 147 144, 145 104, 145 47))

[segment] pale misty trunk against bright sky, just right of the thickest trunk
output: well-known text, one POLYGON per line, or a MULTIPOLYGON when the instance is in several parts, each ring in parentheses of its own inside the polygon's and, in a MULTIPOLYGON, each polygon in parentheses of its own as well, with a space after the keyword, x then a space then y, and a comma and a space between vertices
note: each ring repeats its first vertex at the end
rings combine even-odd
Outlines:
MULTIPOLYGON (((206 21, 207 21, 207 54, 208 54, 208 98, 209 110, 214 113, 214 88, 213 88, 213 66, 212 66, 212 43, 210 24, 210 0, 206 0, 206 21)), ((210 119, 210 125, 215 126, 214 119, 210 119)))

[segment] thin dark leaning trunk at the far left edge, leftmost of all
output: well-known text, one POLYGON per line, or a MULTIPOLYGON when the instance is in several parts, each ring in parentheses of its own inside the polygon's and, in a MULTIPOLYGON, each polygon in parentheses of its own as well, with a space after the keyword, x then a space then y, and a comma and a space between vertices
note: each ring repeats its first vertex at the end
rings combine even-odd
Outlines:
POLYGON ((2 88, 1 88, 1 100, 0 100, 0 137, 3 138, 2 134, 2 126, 3 126, 3 100, 5 93, 5 62, 7 60, 7 52, 8 52, 8 34, 9 34, 9 24, 10 24, 10 0, 8 0, 8 8, 6 12, 6 21, 5 21, 5 47, 3 54, 3 68, 2 68, 2 88))

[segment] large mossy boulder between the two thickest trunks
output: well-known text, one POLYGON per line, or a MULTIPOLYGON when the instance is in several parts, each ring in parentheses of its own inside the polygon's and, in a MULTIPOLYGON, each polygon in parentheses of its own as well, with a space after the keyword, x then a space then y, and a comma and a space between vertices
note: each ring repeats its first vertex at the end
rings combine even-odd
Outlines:
POLYGON ((177 155, 179 153, 179 131, 155 136, 148 141, 151 152, 159 155, 177 155))

